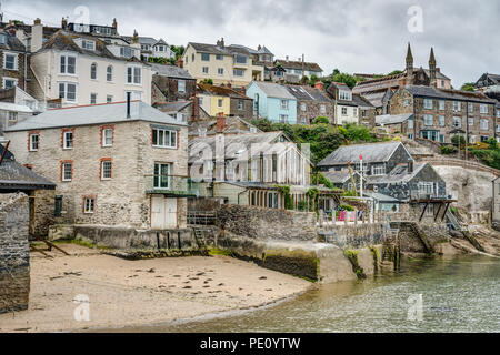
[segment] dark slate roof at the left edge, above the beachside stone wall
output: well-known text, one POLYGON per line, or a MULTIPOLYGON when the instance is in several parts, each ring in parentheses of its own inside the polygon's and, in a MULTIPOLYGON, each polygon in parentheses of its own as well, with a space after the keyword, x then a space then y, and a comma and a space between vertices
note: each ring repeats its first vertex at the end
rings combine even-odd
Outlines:
MULTIPOLYGON (((0 144, 0 155, 3 153, 0 144)), ((30 169, 16 162, 11 152, 7 151, 0 165, 0 190, 54 190, 56 184, 36 174, 30 169)))

